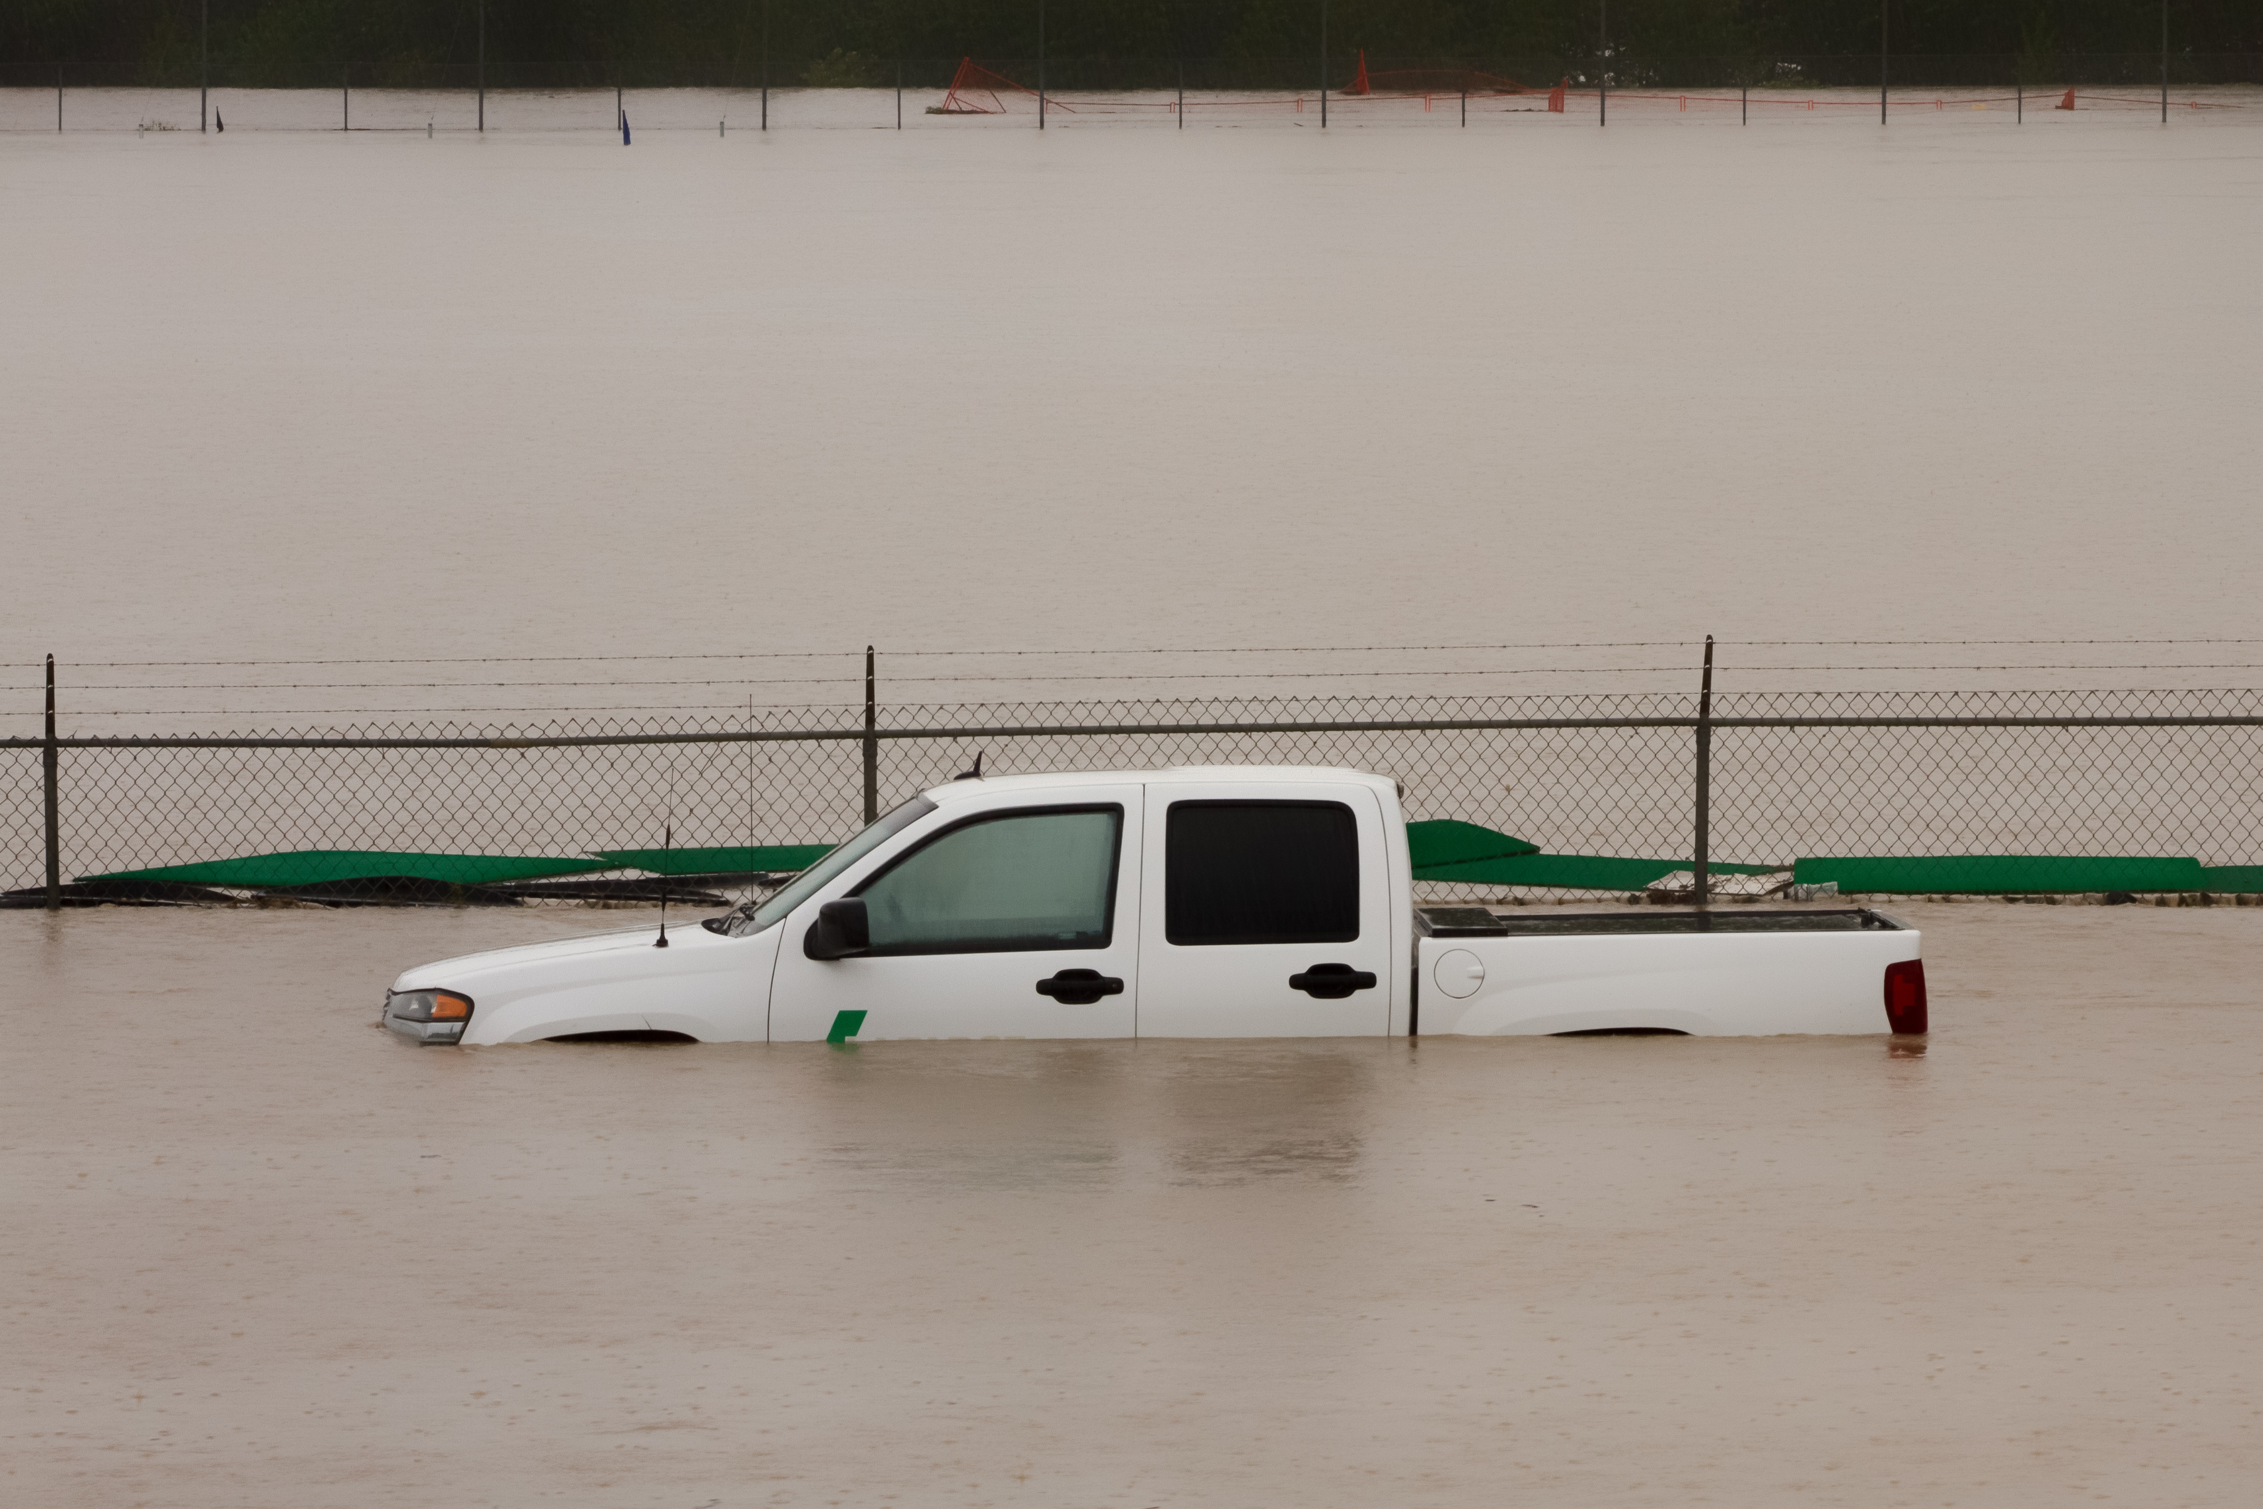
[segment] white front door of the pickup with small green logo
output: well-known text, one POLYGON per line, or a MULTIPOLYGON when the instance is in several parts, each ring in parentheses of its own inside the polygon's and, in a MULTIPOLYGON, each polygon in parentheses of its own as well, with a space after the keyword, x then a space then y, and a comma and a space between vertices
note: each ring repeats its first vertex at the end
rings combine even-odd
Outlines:
POLYGON ((803 952, 828 894, 785 919, 772 1041, 1132 1036, 1141 787, 950 812, 844 891, 864 900, 869 955, 803 952))

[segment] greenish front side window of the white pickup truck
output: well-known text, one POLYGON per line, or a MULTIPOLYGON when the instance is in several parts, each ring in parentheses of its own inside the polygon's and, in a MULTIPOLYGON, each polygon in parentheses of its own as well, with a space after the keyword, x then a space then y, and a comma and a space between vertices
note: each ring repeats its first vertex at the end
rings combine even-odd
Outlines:
POLYGON ((871 952, 1107 948, 1122 817, 1048 808, 939 833, 858 889, 871 952))

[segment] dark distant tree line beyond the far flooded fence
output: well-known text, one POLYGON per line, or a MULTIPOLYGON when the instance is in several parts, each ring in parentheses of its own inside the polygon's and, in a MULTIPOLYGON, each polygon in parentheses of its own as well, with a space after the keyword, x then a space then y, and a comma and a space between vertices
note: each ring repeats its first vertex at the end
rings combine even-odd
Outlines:
MULTIPOLYGON (((1326 0, 1349 57, 1591 59, 1598 0, 1326 0)), ((2159 0, 1883 0, 1912 54, 2152 52, 2159 0)), ((339 61, 394 72, 471 63, 480 0, 11 0, 0 61, 115 61, 179 77, 199 48, 238 81, 328 81, 339 61)), ((1614 50, 1647 57, 1867 54, 1881 0, 1609 0, 1614 50)), ((1319 48, 1322 0, 1046 0, 1059 59, 1283 59, 1319 48)), ((2263 52, 2263 0, 2170 0, 2170 48, 2263 52)), ((767 54, 781 84, 862 81, 878 59, 1027 59, 1039 0, 484 0, 489 61, 724 68, 767 54)), ((876 79, 874 79, 876 81, 876 79)))

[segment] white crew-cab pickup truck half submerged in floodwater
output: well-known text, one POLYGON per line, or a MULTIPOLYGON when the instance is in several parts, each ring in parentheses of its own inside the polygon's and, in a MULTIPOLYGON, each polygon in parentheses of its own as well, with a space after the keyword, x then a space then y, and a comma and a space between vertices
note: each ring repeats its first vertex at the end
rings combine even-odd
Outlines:
POLYGON ((401 975, 419 1043, 1926 1029, 1881 912, 1414 905, 1353 769, 962 778, 763 903, 401 975))

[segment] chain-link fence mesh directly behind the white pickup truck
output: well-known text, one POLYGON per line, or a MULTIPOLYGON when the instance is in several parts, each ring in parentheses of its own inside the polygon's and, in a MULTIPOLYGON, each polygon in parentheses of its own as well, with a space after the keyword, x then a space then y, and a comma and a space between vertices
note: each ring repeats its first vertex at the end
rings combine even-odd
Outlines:
MULTIPOLYGON (((41 905, 50 880, 48 753, 45 738, 0 742, 0 882, 16 905, 41 905)), ((1697 697, 1666 692, 792 706, 543 726, 57 738, 52 753, 54 880, 79 887, 75 900, 272 903, 292 889, 206 885, 190 896, 81 882, 308 851, 548 860, 627 876, 618 896, 652 900, 647 871, 668 866, 609 864, 602 851, 835 844, 975 756, 991 776, 1356 767, 1399 778, 1410 821, 1480 824, 1548 855, 1688 864, 1702 824, 1715 864, 2177 857, 2211 866, 2218 889, 2263 889, 2227 878, 2263 866, 2256 690, 1718 692, 1709 715, 1697 697)), ((688 889, 745 896, 778 880, 740 869, 688 889)), ((2200 871, 2179 885, 2209 889, 2200 871)), ((1432 900, 1604 894, 1512 880, 1421 889, 1432 900)), ((604 898, 586 878, 434 891, 380 876, 328 900, 545 896, 604 898)))

